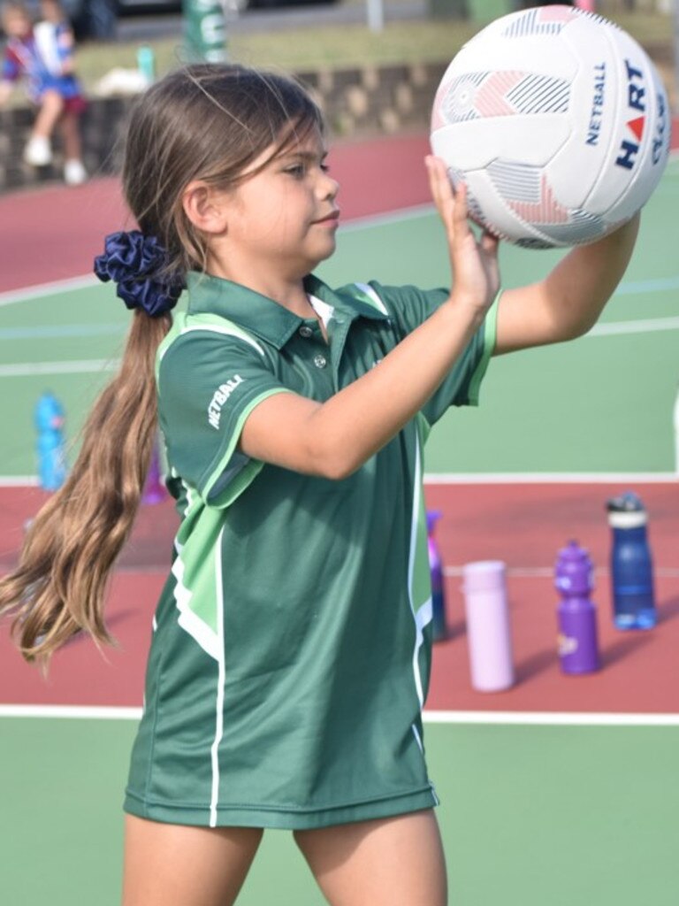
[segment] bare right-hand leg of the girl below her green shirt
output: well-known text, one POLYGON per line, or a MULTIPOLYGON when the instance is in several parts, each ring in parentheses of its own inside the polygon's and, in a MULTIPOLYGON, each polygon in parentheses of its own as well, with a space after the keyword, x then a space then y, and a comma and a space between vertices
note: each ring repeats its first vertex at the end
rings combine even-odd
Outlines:
POLYGON ((331 906, 447 904, 444 851, 431 809, 297 831, 295 840, 331 906))

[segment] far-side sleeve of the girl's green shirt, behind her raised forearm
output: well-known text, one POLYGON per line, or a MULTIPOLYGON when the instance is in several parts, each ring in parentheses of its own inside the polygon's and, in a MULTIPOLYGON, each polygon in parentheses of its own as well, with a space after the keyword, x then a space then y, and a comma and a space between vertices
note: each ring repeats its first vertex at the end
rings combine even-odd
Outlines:
MULTIPOLYGON (((374 281, 369 285, 385 304, 399 341, 424 323, 450 295, 450 290, 444 288, 421 290, 416 286, 382 286, 374 281)), ((478 405, 481 382, 495 347, 498 297, 441 386, 421 410, 430 426, 450 406, 478 405)))

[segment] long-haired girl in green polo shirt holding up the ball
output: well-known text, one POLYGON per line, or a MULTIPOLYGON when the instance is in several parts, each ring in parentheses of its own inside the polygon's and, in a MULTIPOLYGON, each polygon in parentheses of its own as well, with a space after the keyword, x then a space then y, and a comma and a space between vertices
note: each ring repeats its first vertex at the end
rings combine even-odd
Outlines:
POLYGON ((421 722, 426 434, 476 401, 492 353, 585 333, 634 245, 636 220, 493 304, 497 242, 427 159, 452 291, 330 289, 312 275, 339 224, 326 153, 320 112, 278 75, 194 66, 141 98, 124 168, 140 231, 96 262, 135 309, 120 375, 0 586, 29 660, 77 631, 108 638, 158 394, 181 524, 129 774, 124 906, 233 903, 265 827, 294 832, 332 904, 445 906, 421 722))

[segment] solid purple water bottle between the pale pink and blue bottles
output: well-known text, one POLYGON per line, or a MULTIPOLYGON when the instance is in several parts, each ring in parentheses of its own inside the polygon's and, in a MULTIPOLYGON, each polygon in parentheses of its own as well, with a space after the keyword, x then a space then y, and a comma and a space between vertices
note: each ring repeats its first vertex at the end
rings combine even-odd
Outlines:
POLYGON ((594 568, 584 547, 571 541, 559 551, 554 568, 559 603, 559 659, 564 673, 598 670, 597 610, 590 595, 594 568))

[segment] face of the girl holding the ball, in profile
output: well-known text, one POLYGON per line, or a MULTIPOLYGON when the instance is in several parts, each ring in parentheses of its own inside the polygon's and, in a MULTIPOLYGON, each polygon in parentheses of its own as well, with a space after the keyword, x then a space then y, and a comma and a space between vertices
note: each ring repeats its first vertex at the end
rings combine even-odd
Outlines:
POLYGON ((254 175, 225 193, 227 227, 214 249, 212 273, 255 289, 265 275, 290 282, 309 274, 334 252, 339 226, 339 185, 328 173, 319 132, 292 142, 256 172, 274 150, 266 149, 249 169, 254 175))

